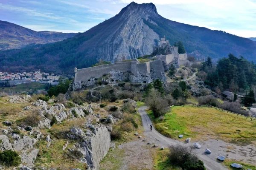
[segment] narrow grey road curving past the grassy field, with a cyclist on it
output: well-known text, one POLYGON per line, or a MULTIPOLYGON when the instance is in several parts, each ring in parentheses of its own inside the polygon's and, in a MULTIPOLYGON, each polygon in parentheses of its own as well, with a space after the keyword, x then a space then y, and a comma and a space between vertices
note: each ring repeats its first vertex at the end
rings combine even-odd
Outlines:
MULTIPOLYGON (((149 129, 149 125, 152 124, 148 114, 145 112, 145 109, 148 107, 140 107, 138 111, 140 116, 142 117, 143 127, 145 129, 145 135, 150 139, 153 138, 157 140, 160 144, 164 146, 171 146, 175 144, 183 144, 182 142, 174 139, 167 138, 162 134, 158 133, 154 127, 152 128, 152 132, 149 129)), ((201 151, 201 150, 200 150, 201 151)), ((209 158, 205 153, 198 154, 198 158, 204 162, 204 166, 207 170, 227 170, 224 166, 218 163, 215 159, 209 158)))

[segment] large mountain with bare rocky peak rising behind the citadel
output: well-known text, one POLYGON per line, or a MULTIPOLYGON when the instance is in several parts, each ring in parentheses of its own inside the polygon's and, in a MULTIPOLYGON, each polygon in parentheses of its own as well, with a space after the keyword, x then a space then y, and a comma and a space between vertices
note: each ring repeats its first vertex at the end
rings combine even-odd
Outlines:
POLYGON ((256 60, 256 43, 247 38, 177 23, 160 16, 153 3, 133 2, 116 16, 75 37, 3 51, 0 53, 0 68, 40 68, 73 74, 74 67, 90 67, 99 59, 115 62, 151 54, 163 36, 170 44, 183 42, 186 51, 196 57, 220 58, 233 53, 256 60))

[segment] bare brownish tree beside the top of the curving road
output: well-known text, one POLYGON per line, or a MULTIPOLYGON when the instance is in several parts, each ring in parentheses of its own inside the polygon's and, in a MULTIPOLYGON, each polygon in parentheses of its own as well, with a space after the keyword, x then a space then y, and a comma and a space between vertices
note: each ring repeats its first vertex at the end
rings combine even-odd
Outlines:
POLYGON ((169 106, 168 102, 166 102, 166 100, 161 97, 161 94, 154 88, 149 92, 145 103, 153 111, 155 118, 169 111, 169 109, 167 109, 169 106))

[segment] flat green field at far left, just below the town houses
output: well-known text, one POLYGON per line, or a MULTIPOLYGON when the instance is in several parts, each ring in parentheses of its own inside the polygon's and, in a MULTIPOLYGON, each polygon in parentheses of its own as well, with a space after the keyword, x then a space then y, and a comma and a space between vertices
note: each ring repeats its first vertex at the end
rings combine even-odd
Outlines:
POLYGON ((16 85, 15 87, 10 88, 0 88, 0 92, 6 92, 6 93, 17 93, 17 92, 23 92, 23 91, 29 91, 30 89, 35 90, 42 90, 45 88, 45 84, 38 83, 38 82, 29 82, 29 83, 23 83, 16 85))

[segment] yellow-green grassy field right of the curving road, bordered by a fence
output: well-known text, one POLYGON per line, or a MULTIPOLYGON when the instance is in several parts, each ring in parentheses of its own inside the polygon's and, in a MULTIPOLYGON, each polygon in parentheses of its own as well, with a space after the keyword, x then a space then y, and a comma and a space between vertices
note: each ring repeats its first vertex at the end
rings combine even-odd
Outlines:
MULTIPOLYGON (((175 106, 163 117, 154 119, 154 127, 163 135, 178 139, 180 134, 192 140, 222 139, 236 144, 256 144, 256 122, 214 108, 175 106)), ((183 139, 182 139, 183 140, 183 139)))

